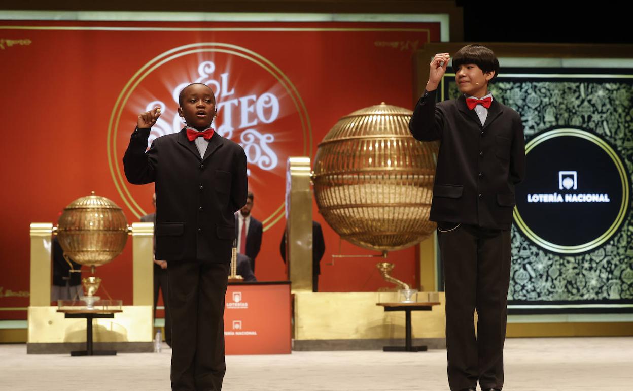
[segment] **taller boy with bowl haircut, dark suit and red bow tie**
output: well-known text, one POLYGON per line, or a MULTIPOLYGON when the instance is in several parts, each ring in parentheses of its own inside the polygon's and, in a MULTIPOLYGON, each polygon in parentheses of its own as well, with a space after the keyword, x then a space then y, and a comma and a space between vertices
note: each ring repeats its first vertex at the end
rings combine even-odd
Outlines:
POLYGON ((463 95, 436 104, 449 60, 439 53, 431 61, 409 123, 418 140, 440 140, 430 220, 437 221, 444 265, 448 380, 451 391, 475 390, 477 381, 482 390, 501 390, 514 186, 525 172, 523 126, 487 89, 499 61, 484 46, 455 54, 463 95))

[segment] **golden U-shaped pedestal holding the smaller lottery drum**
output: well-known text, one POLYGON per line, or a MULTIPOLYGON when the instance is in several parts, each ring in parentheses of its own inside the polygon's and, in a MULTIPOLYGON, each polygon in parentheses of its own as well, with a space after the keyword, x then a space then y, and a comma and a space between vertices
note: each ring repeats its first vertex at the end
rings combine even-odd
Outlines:
MULTIPOLYGON (((51 306, 51 245, 53 224, 32 223, 30 303, 27 353, 68 353, 82 349, 86 340, 83 319, 65 319, 51 306)), ((123 305, 113 319, 94 319, 93 339, 98 349, 118 352, 153 351, 153 224, 132 224, 133 305, 123 305)))

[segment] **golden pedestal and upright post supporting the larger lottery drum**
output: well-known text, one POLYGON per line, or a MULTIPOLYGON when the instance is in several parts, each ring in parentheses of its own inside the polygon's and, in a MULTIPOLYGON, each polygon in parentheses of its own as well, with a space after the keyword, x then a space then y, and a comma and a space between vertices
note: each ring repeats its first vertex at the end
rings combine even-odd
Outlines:
MULTIPOLYGON (((385 340, 403 339, 405 316, 385 312, 379 302, 399 301, 398 292, 312 291, 312 193, 310 158, 290 158, 286 176, 287 260, 294 293, 294 350, 382 349, 385 340)), ((432 268, 434 242, 425 243, 432 268)), ((420 257, 422 260, 422 257, 420 257)), ((432 279, 430 279, 432 281, 432 279)), ((435 286, 430 286, 432 290, 435 286)), ((437 301, 433 311, 411 314, 413 337, 429 347, 445 347, 444 294, 420 292, 418 301, 437 301)))

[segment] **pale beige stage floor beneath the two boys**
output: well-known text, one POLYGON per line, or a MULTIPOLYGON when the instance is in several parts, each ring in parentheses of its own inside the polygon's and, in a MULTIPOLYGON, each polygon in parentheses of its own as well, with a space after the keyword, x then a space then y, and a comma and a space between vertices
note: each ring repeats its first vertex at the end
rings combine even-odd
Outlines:
MULTIPOLYGON (((115 357, 27 355, 0 345, 3 390, 170 390, 171 350, 115 357)), ((633 337, 506 340, 505 390, 593 391, 633 387, 633 337)), ((420 353, 293 352, 227 356, 227 391, 448 390, 446 350, 420 353)))

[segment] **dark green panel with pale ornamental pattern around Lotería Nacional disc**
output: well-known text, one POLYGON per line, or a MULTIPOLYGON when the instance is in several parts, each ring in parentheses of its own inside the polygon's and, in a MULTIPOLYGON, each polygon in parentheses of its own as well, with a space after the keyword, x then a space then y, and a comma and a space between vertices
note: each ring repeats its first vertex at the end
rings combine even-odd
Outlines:
MULTIPOLYGON (((441 99, 454 99, 460 94, 454 74, 445 75, 441 89, 441 99)), ((626 184, 622 194, 627 199, 622 201, 624 210, 618 224, 611 227, 599 245, 578 246, 584 250, 577 253, 564 253, 565 248, 574 247, 550 248, 534 238, 530 240, 525 229, 518 228, 515 210, 510 313, 633 312, 633 222, 629 200, 633 172, 633 72, 502 69, 491 91, 494 99, 520 113, 526 144, 552 129, 581 129, 576 132, 595 135, 596 142, 602 140, 615 151, 612 155, 622 166, 620 176, 625 177, 613 185, 622 188, 626 184)), ((570 156, 578 156, 578 152, 561 151, 570 156)), ((605 178, 610 177, 605 174, 605 178)), ((581 217, 579 221, 590 229, 592 221, 581 217)), ((573 241, 573 237, 567 240, 573 241)))

